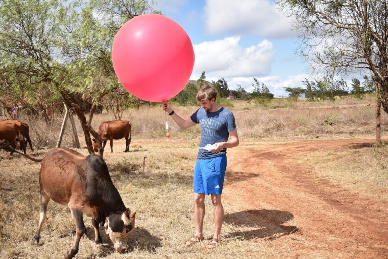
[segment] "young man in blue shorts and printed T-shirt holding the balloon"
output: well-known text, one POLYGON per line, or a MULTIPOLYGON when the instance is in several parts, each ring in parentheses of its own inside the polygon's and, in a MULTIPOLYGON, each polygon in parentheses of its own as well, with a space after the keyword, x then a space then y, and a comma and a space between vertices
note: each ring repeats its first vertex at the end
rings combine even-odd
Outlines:
POLYGON ((186 247, 204 240, 202 227, 205 216, 205 195, 211 195, 215 219, 213 239, 207 244, 208 249, 215 248, 221 239, 221 227, 224 208, 221 202, 222 188, 226 170, 226 148, 236 147, 239 143, 233 114, 216 103, 217 91, 204 87, 197 93, 201 105, 188 119, 179 117, 167 103, 162 109, 183 129, 196 124, 201 126, 200 149, 194 168, 194 221, 196 233, 186 242, 186 247), (230 137, 230 138, 229 138, 230 137), (211 151, 203 149, 213 144, 211 151))

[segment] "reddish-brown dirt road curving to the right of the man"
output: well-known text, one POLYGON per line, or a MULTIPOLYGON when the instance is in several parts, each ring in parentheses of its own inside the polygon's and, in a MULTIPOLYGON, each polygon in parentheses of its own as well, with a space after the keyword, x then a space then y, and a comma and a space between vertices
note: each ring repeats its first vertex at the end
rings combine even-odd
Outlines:
POLYGON ((372 143, 314 140, 230 150, 223 199, 241 212, 225 220, 257 226, 240 237, 268 240, 285 258, 388 258, 388 202, 351 193, 290 159, 372 143))

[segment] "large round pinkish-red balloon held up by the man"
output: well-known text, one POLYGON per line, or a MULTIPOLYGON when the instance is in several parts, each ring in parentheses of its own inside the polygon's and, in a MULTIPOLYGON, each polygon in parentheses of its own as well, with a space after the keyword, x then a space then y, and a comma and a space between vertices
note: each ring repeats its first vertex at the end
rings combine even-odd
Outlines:
POLYGON ((145 14, 126 22, 112 46, 113 68, 134 96, 162 102, 177 95, 194 66, 191 40, 175 21, 145 14))

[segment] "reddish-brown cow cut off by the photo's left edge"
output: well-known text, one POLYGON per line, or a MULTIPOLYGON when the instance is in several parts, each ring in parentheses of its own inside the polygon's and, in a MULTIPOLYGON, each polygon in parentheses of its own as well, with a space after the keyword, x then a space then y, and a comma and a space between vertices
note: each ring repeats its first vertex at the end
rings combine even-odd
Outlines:
MULTIPOLYGON (((20 141, 20 147, 26 154, 26 142, 23 136, 23 124, 18 120, 0 120, 0 144, 16 148, 15 141, 20 141)), ((14 151, 11 151, 11 155, 14 151)))

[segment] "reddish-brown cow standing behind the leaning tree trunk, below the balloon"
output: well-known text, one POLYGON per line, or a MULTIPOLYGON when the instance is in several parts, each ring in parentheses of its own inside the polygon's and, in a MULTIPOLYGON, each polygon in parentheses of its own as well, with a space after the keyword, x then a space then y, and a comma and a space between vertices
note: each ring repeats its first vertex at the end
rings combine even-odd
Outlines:
MULTIPOLYGON (((132 135, 132 123, 128 120, 111 120, 105 121, 100 124, 99 136, 103 141, 103 150, 109 140, 111 144, 111 152, 113 152, 113 140, 119 140, 125 138, 125 151, 129 151, 129 144, 131 144, 132 135)), ((98 152, 98 147, 95 139, 93 138, 94 151, 98 152)))

